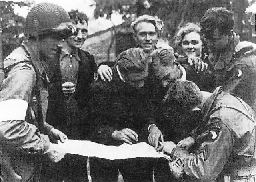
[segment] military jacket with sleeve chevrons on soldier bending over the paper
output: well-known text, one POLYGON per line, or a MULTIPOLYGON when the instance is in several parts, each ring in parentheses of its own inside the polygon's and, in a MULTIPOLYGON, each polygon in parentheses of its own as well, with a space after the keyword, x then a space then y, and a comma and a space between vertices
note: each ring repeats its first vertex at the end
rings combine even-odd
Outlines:
POLYGON ((228 176, 256 174, 254 111, 217 87, 202 112, 204 123, 192 135, 194 150, 172 150, 172 173, 182 181, 205 182, 215 181, 222 171, 228 176))

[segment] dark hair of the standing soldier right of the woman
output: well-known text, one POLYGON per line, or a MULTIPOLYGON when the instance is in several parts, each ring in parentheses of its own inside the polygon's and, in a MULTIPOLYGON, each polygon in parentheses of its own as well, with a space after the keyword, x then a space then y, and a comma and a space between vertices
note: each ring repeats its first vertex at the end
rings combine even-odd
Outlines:
POLYGON ((208 9, 200 20, 202 32, 207 36, 218 28, 220 33, 227 35, 234 26, 233 12, 223 7, 208 9))

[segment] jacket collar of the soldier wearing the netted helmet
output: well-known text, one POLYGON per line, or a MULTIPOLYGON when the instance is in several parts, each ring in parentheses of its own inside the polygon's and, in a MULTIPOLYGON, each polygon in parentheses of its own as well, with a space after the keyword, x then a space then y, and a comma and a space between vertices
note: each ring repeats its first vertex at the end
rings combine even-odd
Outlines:
POLYGON ((47 82, 50 82, 49 80, 49 73, 46 71, 46 65, 45 63, 43 63, 43 61, 41 61, 39 59, 39 55, 36 55, 36 53, 33 51, 33 49, 31 47, 29 47, 26 43, 22 43, 21 44, 22 47, 24 47, 24 49, 26 50, 26 52, 28 53, 28 55, 30 57, 30 60, 32 61, 32 63, 34 64, 35 67, 35 71, 37 72, 37 74, 41 77, 41 78, 45 78, 47 82), (45 75, 43 75, 45 73, 45 75))

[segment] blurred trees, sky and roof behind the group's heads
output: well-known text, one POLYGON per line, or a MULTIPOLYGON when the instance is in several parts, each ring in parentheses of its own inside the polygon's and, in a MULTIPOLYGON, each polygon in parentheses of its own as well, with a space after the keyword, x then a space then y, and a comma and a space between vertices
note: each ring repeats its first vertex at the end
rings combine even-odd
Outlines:
POLYGON ((164 32, 158 43, 175 48, 173 38, 181 26, 199 21, 208 8, 226 7, 234 12, 234 31, 240 39, 255 43, 255 0, 0 1, 3 58, 26 39, 22 34, 26 15, 40 2, 53 2, 68 12, 87 15, 89 36, 82 48, 94 55, 96 63, 113 61, 121 51, 135 46, 130 23, 143 14, 163 20, 164 32))

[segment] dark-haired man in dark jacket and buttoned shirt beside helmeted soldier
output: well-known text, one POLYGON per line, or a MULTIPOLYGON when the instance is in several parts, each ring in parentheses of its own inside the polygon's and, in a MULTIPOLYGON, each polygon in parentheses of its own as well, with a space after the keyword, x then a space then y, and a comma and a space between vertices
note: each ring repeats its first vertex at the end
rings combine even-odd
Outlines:
MULTIPOLYGON (((81 118, 81 111, 87 100, 87 87, 94 80, 96 63, 92 54, 81 49, 87 37, 87 16, 78 11, 69 15, 76 32, 64 40, 60 62, 50 80, 47 119, 54 127, 62 129, 69 139, 86 140, 82 134, 87 124, 81 118)), ((87 180, 87 158, 84 156, 66 154, 55 164, 55 170, 53 166, 45 167, 47 176, 56 181, 87 180)))

